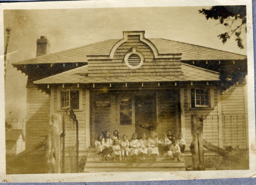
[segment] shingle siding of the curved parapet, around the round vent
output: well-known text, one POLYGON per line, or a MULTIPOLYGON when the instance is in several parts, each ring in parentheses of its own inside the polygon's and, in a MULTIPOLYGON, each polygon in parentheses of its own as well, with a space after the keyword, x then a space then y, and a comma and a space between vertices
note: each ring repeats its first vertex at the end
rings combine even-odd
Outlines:
POLYGON ((112 60, 89 57, 88 76, 181 75, 181 61, 175 56, 173 54, 169 58, 155 58, 150 46, 140 41, 140 35, 129 35, 128 40, 117 47, 112 60), (137 69, 129 68, 124 61, 126 53, 131 52, 132 47, 136 47, 136 51, 144 56, 142 66, 137 69))

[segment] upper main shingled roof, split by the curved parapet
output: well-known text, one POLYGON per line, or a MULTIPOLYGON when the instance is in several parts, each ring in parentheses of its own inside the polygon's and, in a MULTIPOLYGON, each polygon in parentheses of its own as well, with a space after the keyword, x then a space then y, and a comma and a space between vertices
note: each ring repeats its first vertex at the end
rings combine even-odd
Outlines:
MULTIPOLYGON (((203 46, 167 39, 149 39, 160 54, 182 53, 181 60, 244 60, 246 55, 221 51, 203 46)), ((87 62, 87 55, 108 55, 119 39, 106 40, 65 51, 43 55, 13 65, 87 62)))

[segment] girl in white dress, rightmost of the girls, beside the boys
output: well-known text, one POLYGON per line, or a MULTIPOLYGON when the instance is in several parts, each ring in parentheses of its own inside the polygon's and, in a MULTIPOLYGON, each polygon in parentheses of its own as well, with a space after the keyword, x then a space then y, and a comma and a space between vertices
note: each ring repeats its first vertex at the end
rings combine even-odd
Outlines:
POLYGON ((156 132, 151 132, 151 137, 148 138, 148 155, 153 157, 153 161, 156 161, 156 157, 159 155, 157 147, 157 134, 156 132))

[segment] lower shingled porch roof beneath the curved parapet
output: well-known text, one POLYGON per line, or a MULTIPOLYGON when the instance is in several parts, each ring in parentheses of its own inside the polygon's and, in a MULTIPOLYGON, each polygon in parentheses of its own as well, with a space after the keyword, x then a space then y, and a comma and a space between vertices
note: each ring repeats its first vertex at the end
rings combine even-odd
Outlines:
POLYGON ((87 76, 88 66, 75 68, 57 75, 37 80, 35 84, 52 83, 114 83, 114 82, 175 82, 219 81, 220 74, 211 70, 181 64, 182 75, 177 76, 87 76))

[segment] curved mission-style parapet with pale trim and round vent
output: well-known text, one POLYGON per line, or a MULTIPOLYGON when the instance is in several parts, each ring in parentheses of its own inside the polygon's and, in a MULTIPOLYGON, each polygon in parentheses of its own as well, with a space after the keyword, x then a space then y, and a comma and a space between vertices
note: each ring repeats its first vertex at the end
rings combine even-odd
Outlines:
POLYGON ((144 33, 123 32, 109 55, 88 55, 88 76, 181 75, 181 53, 159 54, 144 33))

